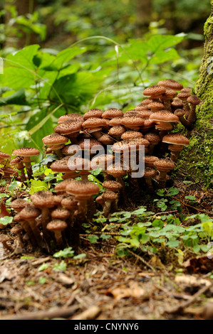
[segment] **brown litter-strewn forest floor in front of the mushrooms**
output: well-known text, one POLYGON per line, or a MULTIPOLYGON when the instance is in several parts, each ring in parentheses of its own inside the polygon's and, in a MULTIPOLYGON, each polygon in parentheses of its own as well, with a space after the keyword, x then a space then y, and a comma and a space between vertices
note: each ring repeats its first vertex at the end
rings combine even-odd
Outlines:
MULTIPOLYGON (((176 183, 181 188, 178 178, 176 183)), ((212 215, 212 191, 196 188, 189 192, 200 199, 199 207, 182 202, 185 213, 199 210, 212 215)), ((55 271, 58 259, 47 254, 27 250, 11 254, 0 249, 0 320, 208 317, 204 308, 213 300, 209 279, 213 259, 192 254, 180 269, 177 259, 163 262, 158 254, 130 251, 129 257, 118 257, 118 241, 113 237, 95 244, 83 234, 80 238, 80 252, 86 257, 64 259, 66 271, 55 271), (45 269, 40 270, 43 264, 45 269)))

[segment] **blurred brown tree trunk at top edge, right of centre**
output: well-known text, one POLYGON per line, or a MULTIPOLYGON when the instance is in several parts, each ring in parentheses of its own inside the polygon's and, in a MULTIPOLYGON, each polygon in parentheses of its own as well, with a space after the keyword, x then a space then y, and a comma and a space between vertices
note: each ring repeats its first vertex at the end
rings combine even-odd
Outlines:
POLYGON ((146 33, 152 21, 152 0, 136 0, 136 37, 146 33))

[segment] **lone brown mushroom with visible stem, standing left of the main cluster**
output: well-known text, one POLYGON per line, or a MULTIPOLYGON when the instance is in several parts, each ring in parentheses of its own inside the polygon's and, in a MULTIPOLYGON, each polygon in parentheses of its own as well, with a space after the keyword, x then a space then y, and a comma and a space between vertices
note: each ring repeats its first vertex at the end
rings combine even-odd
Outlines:
POLYGON ((22 156, 24 158, 22 162, 26 166, 26 173, 28 175, 28 180, 31 180, 31 178, 33 178, 31 157, 39 156, 39 155, 40 155, 40 151, 38 151, 38 149, 34 149, 33 147, 22 147, 21 149, 16 149, 12 153, 12 156, 22 156))

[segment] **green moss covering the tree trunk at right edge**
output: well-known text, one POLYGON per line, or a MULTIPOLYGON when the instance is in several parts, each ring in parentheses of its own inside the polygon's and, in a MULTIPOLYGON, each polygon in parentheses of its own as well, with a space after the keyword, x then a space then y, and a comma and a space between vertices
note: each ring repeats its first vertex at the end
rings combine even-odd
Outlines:
MULTIPOLYGON (((213 0, 211 1, 213 6, 213 0)), ((211 188, 213 175, 212 124, 213 124, 213 7, 204 24, 204 56, 199 69, 199 79, 194 88, 202 100, 197 107, 197 122, 187 133, 190 144, 182 151, 177 163, 185 179, 211 188)), ((185 131, 185 130, 182 130, 185 131)))

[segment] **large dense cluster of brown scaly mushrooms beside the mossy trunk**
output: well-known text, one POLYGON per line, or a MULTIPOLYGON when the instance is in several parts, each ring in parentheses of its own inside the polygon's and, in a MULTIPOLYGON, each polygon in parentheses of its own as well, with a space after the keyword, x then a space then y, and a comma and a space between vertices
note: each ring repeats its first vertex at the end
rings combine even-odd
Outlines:
MULTIPOLYGON (((21 200, 22 208, 16 206, 19 200, 11 203, 16 212, 14 222, 20 227, 19 247, 30 242, 47 252, 54 244, 60 249, 69 245, 78 250, 82 224, 93 219, 98 208, 108 217, 129 199, 136 202, 143 192, 165 188, 180 151, 189 145, 189 139, 175 126, 181 123, 192 129, 200 100, 175 80, 161 80, 147 87, 143 95, 145 99, 127 112, 96 108, 83 115, 59 117, 54 133, 42 141, 46 153, 57 157, 48 167, 53 173, 61 173, 63 181, 53 193, 38 191, 30 202, 21 200), (97 155, 97 151, 101 153, 97 155), (134 153, 135 165, 130 153, 134 153), (140 163, 144 168, 135 177, 140 163), (103 172, 103 191, 88 181, 88 175, 97 168, 103 172)), ((26 174, 29 180, 33 178, 31 156, 39 153, 31 148, 13 152, 16 158, 11 165, 20 171, 22 182, 26 174)))

